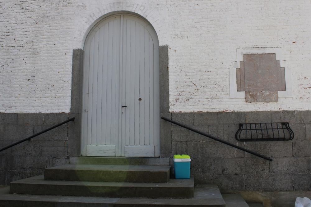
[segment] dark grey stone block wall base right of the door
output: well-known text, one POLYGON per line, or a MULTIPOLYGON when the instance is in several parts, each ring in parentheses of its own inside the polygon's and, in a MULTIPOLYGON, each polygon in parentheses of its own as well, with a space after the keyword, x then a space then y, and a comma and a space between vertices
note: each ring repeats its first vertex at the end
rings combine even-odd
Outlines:
MULTIPOLYGON (((196 184, 217 184, 222 192, 310 191, 311 111, 165 113, 167 118, 271 157, 272 162, 161 120, 162 143, 171 155, 188 154, 196 184), (240 123, 289 122, 291 141, 238 142, 240 123), (165 131, 166 130, 166 131, 165 131), (166 144, 167 145, 167 144, 166 144)), ((162 148, 162 156, 169 155, 162 148)))

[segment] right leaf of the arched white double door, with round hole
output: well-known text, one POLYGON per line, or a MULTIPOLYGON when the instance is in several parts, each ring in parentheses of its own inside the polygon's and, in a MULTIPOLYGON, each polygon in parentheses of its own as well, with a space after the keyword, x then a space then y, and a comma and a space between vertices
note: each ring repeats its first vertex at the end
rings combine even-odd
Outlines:
POLYGON ((154 156, 154 44, 144 25, 123 16, 123 156, 154 156))

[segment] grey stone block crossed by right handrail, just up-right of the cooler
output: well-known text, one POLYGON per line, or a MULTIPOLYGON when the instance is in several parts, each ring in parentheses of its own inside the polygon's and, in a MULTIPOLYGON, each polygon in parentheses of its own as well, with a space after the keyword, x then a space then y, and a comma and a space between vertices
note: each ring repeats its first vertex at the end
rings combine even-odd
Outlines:
MULTIPOLYGON (((243 147, 243 142, 230 142, 243 147)), ((244 151, 221 142, 200 142, 200 157, 244 157, 244 151)))

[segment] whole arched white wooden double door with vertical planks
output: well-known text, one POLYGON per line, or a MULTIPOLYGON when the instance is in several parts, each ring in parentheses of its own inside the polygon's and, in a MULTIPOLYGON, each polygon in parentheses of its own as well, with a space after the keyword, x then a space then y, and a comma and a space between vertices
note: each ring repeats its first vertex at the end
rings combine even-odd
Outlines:
POLYGON ((115 15, 85 43, 82 155, 159 156, 159 43, 139 17, 115 15))

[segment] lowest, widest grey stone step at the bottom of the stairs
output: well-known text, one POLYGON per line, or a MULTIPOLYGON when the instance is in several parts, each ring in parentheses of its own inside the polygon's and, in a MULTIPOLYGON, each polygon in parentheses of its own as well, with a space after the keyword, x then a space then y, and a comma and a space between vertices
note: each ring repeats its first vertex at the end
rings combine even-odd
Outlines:
POLYGON ((137 206, 200 206, 225 207, 225 201, 216 185, 195 187, 194 198, 103 198, 79 196, 44 196, 10 194, 9 187, 0 189, 0 206, 23 207, 137 207, 137 206))

